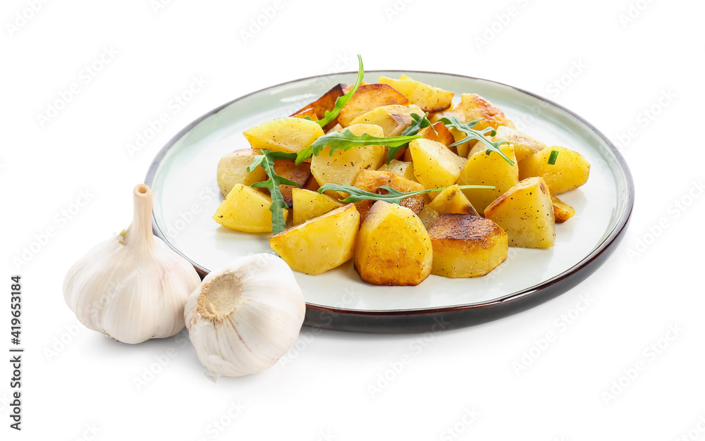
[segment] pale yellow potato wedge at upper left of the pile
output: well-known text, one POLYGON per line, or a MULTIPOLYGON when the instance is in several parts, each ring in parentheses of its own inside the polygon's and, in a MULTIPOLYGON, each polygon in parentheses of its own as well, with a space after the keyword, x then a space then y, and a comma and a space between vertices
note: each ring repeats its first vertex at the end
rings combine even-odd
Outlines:
POLYGON ((317 122, 303 118, 278 118, 246 130, 243 135, 253 149, 298 153, 309 147, 323 129, 317 122))

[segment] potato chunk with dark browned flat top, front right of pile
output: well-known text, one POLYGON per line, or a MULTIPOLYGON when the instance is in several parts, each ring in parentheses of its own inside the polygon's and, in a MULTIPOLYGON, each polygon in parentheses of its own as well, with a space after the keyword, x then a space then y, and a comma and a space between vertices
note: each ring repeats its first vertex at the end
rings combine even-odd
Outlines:
POLYGON ((431 274, 479 277, 507 259, 507 233, 489 219, 441 214, 431 226, 429 237, 434 248, 431 274))

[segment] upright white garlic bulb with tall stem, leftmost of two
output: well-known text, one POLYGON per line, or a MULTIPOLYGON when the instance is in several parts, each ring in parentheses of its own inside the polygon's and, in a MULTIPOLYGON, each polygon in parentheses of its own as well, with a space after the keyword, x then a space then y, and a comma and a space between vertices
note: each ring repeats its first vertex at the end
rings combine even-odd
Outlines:
POLYGON ((201 279, 193 266, 152 235, 152 191, 137 185, 127 230, 93 247, 63 282, 68 307, 87 328, 124 343, 171 337, 201 279))

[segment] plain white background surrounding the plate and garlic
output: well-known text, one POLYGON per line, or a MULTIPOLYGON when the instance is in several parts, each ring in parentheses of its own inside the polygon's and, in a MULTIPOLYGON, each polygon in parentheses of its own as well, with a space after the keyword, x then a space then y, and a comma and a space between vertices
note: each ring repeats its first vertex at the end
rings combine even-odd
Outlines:
POLYGON ((705 439, 701 2, 57 1, 33 14, 29 4, 7 0, 0 12, 0 308, 20 273, 27 348, 21 433, 8 428, 0 367, 3 439, 705 439), (86 76, 106 49, 109 63, 86 76), (168 139, 240 95, 355 70, 358 52, 369 70, 522 87, 620 142, 637 203, 613 257, 570 292, 494 323, 425 340, 304 329, 288 363, 217 384, 183 335, 133 347, 76 325, 63 276, 128 225, 130 192, 168 139), (207 85, 174 111, 194 76, 207 85), (42 125, 37 114, 74 83, 80 92, 42 125), (163 112, 169 122, 130 155, 163 112), (67 215, 82 192, 87 204, 67 215), (13 263, 47 228, 56 234, 13 263))

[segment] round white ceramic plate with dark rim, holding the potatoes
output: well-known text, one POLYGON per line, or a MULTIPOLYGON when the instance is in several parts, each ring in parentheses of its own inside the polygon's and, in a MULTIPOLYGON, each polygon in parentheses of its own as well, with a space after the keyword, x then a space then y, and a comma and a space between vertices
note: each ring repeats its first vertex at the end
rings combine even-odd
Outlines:
MULTIPOLYGON (((416 287, 380 287, 360 280, 349 261, 322 275, 296 273, 309 308, 307 324, 368 332, 427 329, 443 317, 448 327, 469 325, 527 309, 570 289, 611 254, 631 213, 634 190, 617 149, 579 116, 529 92, 478 78, 408 72, 415 80, 486 97, 517 129, 550 145, 579 151, 591 163, 586 185, 560 195, 575 207, 556 225, 549 249, 510 248, 507 261, 482 278, 431 275, 416 287), (607 252, 605 252, 607 251, 607 252)), ((396 71, 367 72, 367 82, 396 71)), ((355 73, 324 75, 269 87, 235 99, 195 120, 162 149, 146 183, 154 192, 155 232, 201 273, 236 256, 273 252, 268 234, 235 232, 211 216, 223 200, 216 165, 224 154, 250 147, 242 133, 266 120, 288 116, 355 73)))

